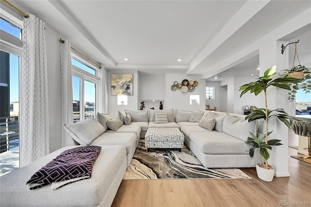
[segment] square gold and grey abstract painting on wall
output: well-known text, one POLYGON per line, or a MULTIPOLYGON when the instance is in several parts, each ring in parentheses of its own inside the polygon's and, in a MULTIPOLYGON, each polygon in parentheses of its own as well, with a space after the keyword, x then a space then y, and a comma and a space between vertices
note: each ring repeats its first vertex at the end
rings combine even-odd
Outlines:
POLYGON ((133 96, 133 74, 111 73, 111 95, 133 96))

